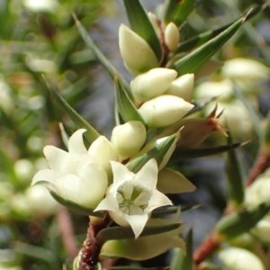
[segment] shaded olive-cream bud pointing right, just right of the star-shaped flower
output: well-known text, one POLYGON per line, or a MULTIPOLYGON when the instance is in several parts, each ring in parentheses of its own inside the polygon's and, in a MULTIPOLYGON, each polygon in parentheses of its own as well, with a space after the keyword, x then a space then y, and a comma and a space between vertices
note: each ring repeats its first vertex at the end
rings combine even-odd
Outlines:
POLYGON ((190 193, 196 187, 184 175, 165 167, 157 175, 157 189, 162 193, 190 193))

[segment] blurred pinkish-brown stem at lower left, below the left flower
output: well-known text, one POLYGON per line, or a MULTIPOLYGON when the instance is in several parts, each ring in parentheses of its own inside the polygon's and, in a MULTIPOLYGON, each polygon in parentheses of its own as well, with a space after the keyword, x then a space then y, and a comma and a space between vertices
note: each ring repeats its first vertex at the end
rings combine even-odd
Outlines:
POLYGON ((64 246, 67 248, 68 256, 74 259, 78 253, 76 238, 74 237, 74 230, 67 208, 59 205, 57 213, 58 226, 62 236, 64 246))

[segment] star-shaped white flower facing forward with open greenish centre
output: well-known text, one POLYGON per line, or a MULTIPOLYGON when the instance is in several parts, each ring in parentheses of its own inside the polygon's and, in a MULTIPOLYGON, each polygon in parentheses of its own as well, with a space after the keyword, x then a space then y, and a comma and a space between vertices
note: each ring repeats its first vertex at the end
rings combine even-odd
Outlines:
POLYGON ((112 220, 131 227, 135 238, 145 227, 149 213, 172 202, 157 191, 157 162, 154 158, 135 175, 126 166, 111 161, 113 184, 94 211, 109 211, 112 220))

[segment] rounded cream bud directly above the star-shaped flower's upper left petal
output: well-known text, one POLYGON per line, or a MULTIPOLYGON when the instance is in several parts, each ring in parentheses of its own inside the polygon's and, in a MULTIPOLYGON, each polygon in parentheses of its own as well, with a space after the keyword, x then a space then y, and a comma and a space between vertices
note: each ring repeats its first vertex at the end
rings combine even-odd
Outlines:
POLYGON ((122 158, 136 154, 145 143, 147 131, 141 121, 129 121, 112 130, 112 144, 122 158))

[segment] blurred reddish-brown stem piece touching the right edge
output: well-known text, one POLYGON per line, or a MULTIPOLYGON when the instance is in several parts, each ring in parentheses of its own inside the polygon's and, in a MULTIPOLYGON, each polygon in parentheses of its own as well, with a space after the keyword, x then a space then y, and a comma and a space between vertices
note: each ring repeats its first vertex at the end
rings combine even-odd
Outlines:
POLYGON ((268 166, 270 166, 270 157, 262 152, 257 158, 255 165, 249 171, 247 186, 252 184, 258 175, 263 174, 268 166))

